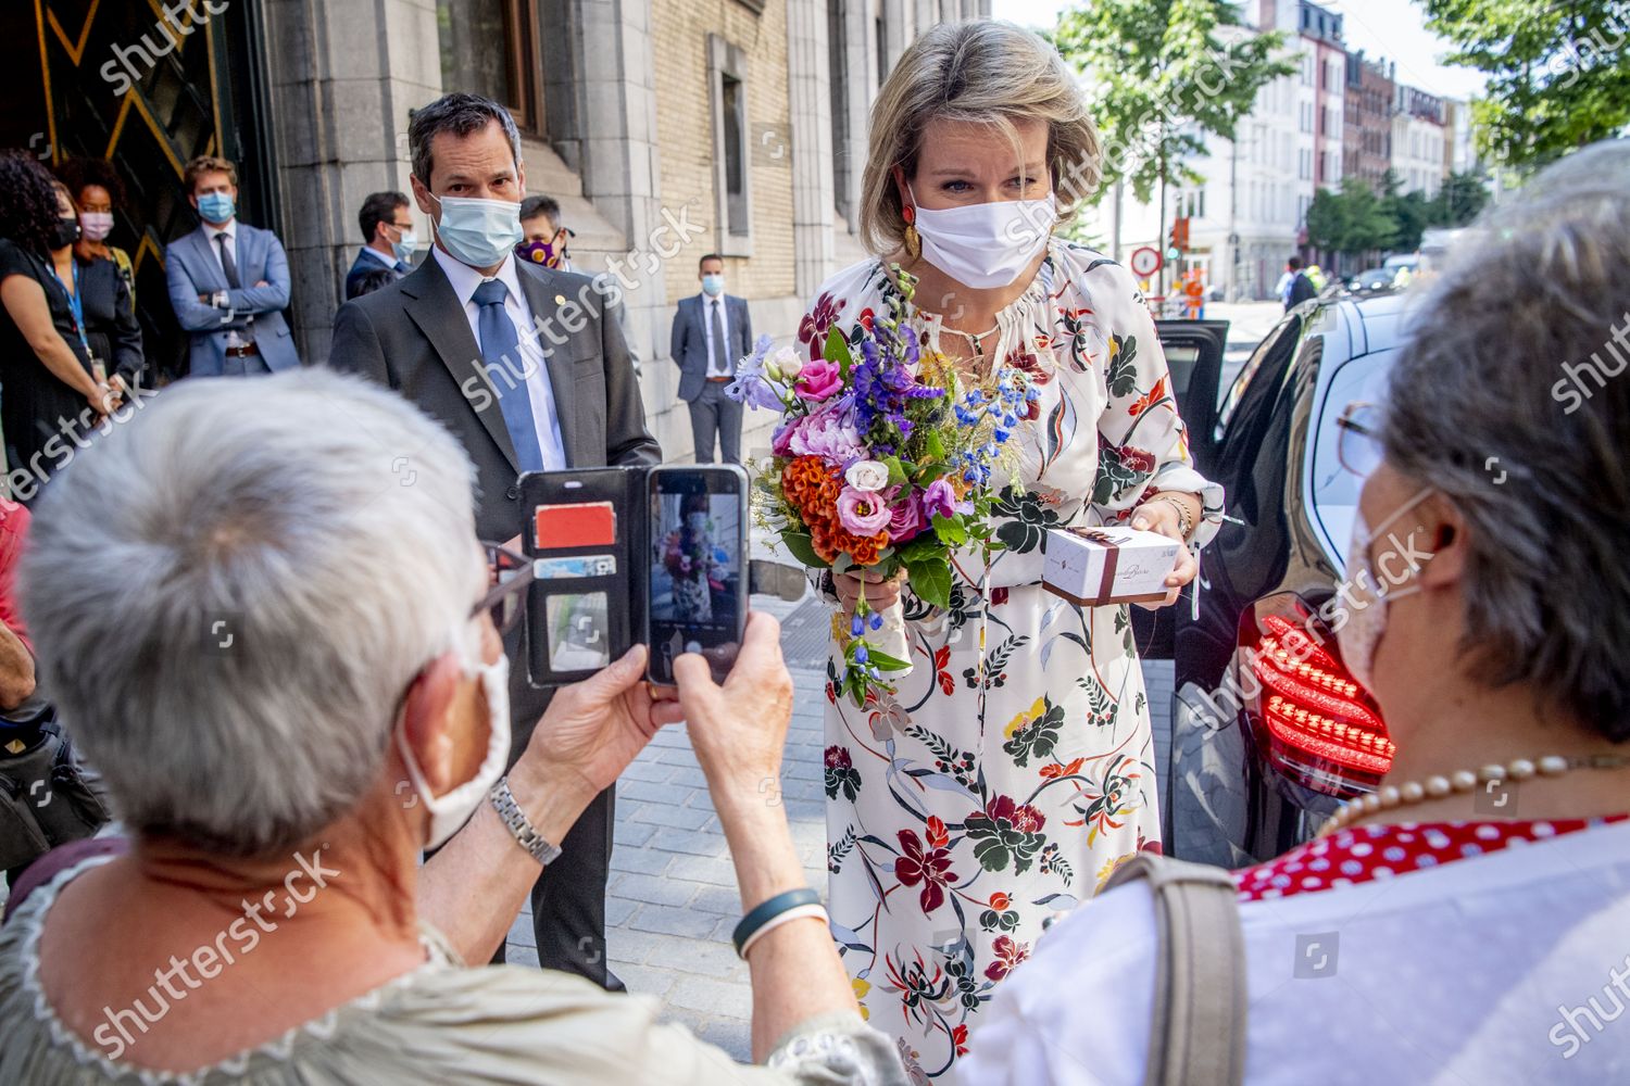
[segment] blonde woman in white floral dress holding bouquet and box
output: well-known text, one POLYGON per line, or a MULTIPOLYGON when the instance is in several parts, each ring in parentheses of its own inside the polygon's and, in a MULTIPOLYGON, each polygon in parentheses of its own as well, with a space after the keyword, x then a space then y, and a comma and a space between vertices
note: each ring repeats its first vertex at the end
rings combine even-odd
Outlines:
MULTIPOLYGON (((927 1078, 1043 918, 1161 843, 1126 607, 1040 586, 1050 528, 1133 524, 1196 547, 1221 511, 1131 277, 1053 234, 1097 176, 1077 77, 1048 44, 1007 23, 929 29, 872 111, 861 223, 879 259, 826 282, 799 331, 810 358, 833 327, 854 342, 888 311, 898 264, 918 278, 923 345, 965 388, 1025 371, 1042 392, 1015 422, 1004 549, 988 565, 962 552, 949 612, 910 585, 831 583, 846 609, 862 588, 874 607, 905 593, 911 676, 861 712, 828 698, 830 907, 870 1021, 927 1078)), ((1164 604, 1193 575, 1183 550, 1164 604)))

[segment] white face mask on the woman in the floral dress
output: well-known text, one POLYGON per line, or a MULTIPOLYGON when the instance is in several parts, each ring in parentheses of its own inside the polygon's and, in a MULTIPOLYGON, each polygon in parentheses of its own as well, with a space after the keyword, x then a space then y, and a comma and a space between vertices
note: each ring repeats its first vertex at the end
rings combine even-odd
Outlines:
POLYGON ((968 207, 927 208, 916 204, 923 257, 965 287, 986 290, 1019 278, 1046 247, 1058 221, 1058 200, 996 200, 968 207))

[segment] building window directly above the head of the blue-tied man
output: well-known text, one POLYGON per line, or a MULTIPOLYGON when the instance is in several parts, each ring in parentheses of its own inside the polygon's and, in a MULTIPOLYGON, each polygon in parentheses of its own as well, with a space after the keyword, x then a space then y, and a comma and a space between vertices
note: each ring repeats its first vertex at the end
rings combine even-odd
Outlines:
POLYGON ((515 124, 543 132, 536 0, 437 0, 442 86, 504 103, 515 124))

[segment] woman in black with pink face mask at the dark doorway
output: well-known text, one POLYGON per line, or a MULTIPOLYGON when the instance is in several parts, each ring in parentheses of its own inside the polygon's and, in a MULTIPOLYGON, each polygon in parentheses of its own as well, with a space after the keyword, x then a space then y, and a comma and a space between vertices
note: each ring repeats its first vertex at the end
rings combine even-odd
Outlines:
POLYGON ((124 205, 124 184, 112 163, 98 158, 70 158, 57 168, 57 176, 80 212, 73 262, 78 267, 91 366, 134 388, 145 365, 142 326, 135 319, 135 274, 130 256, 108 244, 114 212, 124 205))

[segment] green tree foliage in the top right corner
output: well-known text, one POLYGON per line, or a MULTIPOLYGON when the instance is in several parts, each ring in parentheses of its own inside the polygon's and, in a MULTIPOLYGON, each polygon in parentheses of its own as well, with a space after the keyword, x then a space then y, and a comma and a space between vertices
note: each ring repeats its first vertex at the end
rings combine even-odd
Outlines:
POLYGON ((1542 166, 1630 125, 1630 0, 1420 0, 1446 57, 1488 73, 1480 151, 1542 166))

